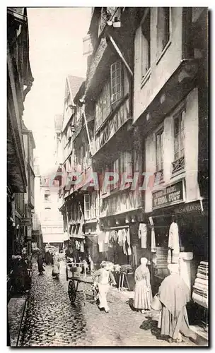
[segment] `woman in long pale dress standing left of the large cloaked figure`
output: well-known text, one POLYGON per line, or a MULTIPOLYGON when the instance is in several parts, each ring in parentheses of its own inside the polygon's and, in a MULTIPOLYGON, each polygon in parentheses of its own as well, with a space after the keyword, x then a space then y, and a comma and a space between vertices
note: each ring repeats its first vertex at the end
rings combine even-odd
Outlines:
POLYGON ((141 258, 141 265, 136 268, 134 273, 134 308, 144 313, 151 309, 152 293, 150 284, 149 268, 146 267, 147 258, 141 258))

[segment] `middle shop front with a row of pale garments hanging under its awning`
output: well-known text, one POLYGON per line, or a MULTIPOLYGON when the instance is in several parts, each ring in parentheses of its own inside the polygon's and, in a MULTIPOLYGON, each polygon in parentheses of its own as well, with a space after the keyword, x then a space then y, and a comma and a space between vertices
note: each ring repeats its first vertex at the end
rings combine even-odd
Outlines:
POLYGON ((143 222, 142 208, 100 218, 100 259, 115 264, 115 280, 121 289, 126 287, 134 290, 134 271, 139 266, 141 257, 148 258, 150 264, 150 244, 141 239, 140 229, 143 222))

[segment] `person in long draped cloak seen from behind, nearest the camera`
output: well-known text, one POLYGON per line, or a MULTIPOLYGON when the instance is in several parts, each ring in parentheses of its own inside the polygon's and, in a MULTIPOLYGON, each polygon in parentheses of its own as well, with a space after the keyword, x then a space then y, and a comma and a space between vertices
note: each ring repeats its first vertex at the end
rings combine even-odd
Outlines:
POLYGON ((191 337, 186 304, 190 301, 190 291, 180 277, 178 264, 169 264, 170 275, 165 277, 158 290, 158 297, 162 304, 161 335, 170 336, 169 342, 181 342, 183 333, 191 337))

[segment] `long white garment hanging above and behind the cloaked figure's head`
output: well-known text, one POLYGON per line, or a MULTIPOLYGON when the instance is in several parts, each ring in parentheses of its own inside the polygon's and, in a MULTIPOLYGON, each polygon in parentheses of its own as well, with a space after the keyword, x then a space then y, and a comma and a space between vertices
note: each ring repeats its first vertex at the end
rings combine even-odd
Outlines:
POLYGON ((171 263, 178 263, 180 244, 179 244, 178 225, 175 222, 173 222, 170 225, 168 247, 170 249, 168 253, 168 261, 170 261, 170 257, 171 257, 171 263))

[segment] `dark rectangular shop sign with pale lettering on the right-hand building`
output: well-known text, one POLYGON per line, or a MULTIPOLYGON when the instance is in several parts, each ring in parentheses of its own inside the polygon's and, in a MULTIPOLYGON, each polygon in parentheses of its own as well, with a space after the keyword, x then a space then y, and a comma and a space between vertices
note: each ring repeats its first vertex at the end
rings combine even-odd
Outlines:
POLYGON ((183 201, 182 180, 152 194, 153 209, 174 205, 181 201, 183 201))

